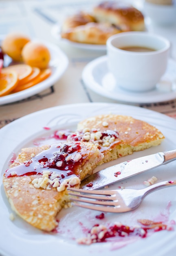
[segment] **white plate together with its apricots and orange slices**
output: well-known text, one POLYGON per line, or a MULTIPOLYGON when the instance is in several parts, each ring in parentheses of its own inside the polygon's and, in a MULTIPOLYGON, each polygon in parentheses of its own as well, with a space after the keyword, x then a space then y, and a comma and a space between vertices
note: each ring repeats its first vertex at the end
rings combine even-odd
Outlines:
POLYGON ((56 83, 68 66, 59 47, 21 33, 0 37, 0 105, 38 94, 56 83), (1 60, 2 58, 2 60, 1 60))

